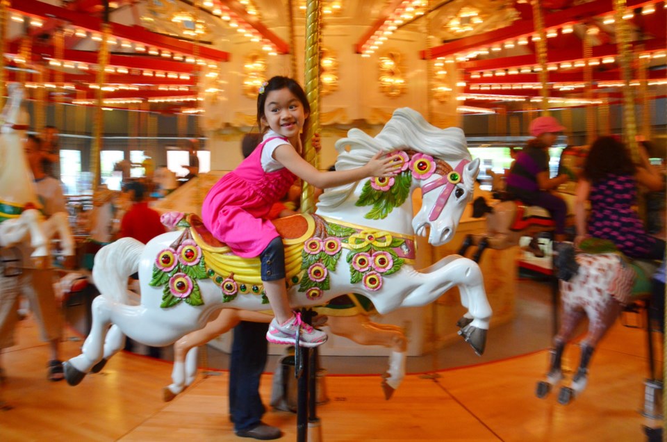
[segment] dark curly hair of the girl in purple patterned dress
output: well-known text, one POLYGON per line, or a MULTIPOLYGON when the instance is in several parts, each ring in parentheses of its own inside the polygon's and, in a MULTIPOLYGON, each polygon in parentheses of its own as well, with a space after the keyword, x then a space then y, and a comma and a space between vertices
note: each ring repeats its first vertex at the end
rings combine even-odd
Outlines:
POLYGON ((593 183, 605 179, 607 174, 634 175, 636 167, 623 142, 613 136, 599 137, 588 152, 584 165, 584 178, 593 183))

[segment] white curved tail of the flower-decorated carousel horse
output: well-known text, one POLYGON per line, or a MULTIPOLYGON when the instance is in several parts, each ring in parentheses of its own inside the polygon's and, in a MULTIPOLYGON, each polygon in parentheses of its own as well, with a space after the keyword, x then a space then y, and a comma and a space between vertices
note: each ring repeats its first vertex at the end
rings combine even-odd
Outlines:
POLYGON ((101 295, 127 304, 127 278, 137 272, 144 247, 134 238, 120 238, 95 255, 92 278, 101 295))

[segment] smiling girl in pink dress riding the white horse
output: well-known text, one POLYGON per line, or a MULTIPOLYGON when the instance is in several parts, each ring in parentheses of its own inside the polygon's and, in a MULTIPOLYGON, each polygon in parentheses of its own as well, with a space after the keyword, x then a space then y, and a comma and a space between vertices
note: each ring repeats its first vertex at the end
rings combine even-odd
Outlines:
POLYGON ((296 177, 312 186, 329 188, 366 177, 390 177, 400 171, 400 156, 375 155, 352 170, 321 172, 302 157, 302 131, 311 108, 299 83, 274 76, 257 97, 257 124, 263 142, 242 163, 215 183, 204 199, 201 218, 218 240, 238 256, 261 261, 261 279, 274 311, 267 331, 272 343, 315 347, 327 341, 324 331, 302 323, 290 310, 285 286, 285 253, 274 225, 263 217, 288 191, 296 177))

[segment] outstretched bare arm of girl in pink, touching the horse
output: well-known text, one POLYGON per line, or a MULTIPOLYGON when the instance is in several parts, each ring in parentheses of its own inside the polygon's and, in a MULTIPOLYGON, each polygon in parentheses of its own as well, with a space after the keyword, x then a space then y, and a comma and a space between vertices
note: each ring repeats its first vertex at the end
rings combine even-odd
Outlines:
POLYGON ((401 158, 398 155, 384 157, 384 154, 378 152, 368 163, 355 169, 321 172, 299 156, 292 145, 280 145, 273 152, 274 158, 290 172, 322 189, 354 183, 366 177, 393 177, 401 166, 401 158))

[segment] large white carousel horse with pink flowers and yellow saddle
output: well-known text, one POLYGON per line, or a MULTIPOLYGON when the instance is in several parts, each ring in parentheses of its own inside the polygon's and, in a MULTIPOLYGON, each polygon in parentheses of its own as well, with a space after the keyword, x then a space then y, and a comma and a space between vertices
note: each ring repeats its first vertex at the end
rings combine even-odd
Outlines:
MULTIPOLYGON (((472 195, 479 160, 470 161, 463 131, 438 129, 403 108, 376 137, 352 129, 336 149, 337 170, 392 151, 404 158, 404 168, 395 177, 330 189, 320 197, 315 215, 282 219, 293 231, 297 224, 305 226, 297 238, 283 238, 291 306, 317 306, 359 293, 384 314, 424 306, 459 286, 461 304, 468 309, 459 334, 477 354, 484 352, 491 306, 478 265, 458 255, 420 271, 412 265, 414 234, 426 236, 430 228, 431 245, 446 243, 472 195), (413 218, 409 196, 416 188, 422 190, 422 208, 413 218)), ((160 235, 147 245, 122 238, 99 251, 93 277, 101 296, 93 302, 92 329, 82 353, 63 364, 69 384, 79 384, 96 364, 118 352, 124 336, 145 345, 170 345, 204 327, 221 308, 266 308, 259 260, 233 256, 188 220, 179 216, 173 224, 181 225, 182 232, 160 235), (130 306, 126 280, 137 271, 141 303, 130 306)))

